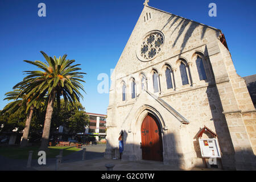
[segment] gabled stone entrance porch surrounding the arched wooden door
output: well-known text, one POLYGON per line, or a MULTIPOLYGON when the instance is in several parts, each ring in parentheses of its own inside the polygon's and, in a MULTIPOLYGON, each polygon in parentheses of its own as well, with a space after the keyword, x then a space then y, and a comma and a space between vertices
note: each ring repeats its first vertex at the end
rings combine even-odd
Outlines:
MULTIPOLYGON (((107 140, 109 146, 105 152, 105 156, 110 158, 113 156, 111 148, 118 143, 118 137, 121 130, 124 132, 125 150, 122 159, 126 160, 141 160, 142 151, 140 148, 141 142, 141 124, 147 114, 148 106, 152 106, 160 111, 160 117, 163 118, 162 126, 167 126, 168 130, 163 129, 163 155, 164 162, 171 165, 185 166, 181 163, 181 155, 183 153, 181 142, 179 139, 179 125, 180 122, 171 115, 168 110, 162 109, 162 106, 148 96, 146 93, 141 93, 137 102, 134 104, 127 104, 118 106, 118 111, 112 119, 116 123, 115 127, 109 127, 107 133, 107 140), (171 162, 171 163, 170 163, 171 162)), ((111 111, 110 109, 109 111, 111 111)))

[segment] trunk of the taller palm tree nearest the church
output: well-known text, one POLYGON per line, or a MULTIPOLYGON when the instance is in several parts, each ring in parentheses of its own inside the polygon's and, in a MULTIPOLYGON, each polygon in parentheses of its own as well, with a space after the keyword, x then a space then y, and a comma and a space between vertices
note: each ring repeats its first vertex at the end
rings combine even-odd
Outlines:
POLYGON ((47 151, 47 148, 48 148, 49 133, 50 133, 50 129, 51 129, 51 119, 52 119, 54 101, 55 101, 55 93, 52 92, 52 94, 49 96, 49 101, 47 104, 46 119, 44 119, 42 143, 39 148, 39 150, 42 150, 42 151, 47 151))

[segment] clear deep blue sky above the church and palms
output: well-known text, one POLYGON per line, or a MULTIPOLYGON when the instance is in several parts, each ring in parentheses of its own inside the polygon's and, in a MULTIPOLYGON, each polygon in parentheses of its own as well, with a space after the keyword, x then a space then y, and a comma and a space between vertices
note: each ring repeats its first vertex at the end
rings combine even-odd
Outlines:
MULTIPOLYGON (((90 113, 106 114, 109 95, 97 92, 100 73, 110 77, 141 11, 144 0, 1 0, 0 1, 0 109, 4 94, 36 67, 23 60, 49 56, 75 59, 86 72, 86 94, 81 101, 90 113), (46 4, 46 17, 38 4, 46 4)), ((256 73, 256 1, 249 0, 150 0, 148 5, 195 20, 224 32, 237 73, 256 73), (210 17, 209 3, 217 17, 210 17)))

